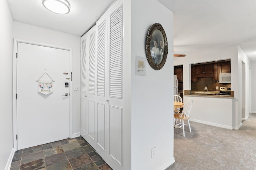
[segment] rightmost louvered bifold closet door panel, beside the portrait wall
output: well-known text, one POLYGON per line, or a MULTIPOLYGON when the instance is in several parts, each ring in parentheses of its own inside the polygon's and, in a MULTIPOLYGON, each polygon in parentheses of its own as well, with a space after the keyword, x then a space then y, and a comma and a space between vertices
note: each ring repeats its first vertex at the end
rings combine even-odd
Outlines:
POLYGON ((120 3, 109 8, 109 58, 108 58, 108 164, 112 169, 123 169, 123 6, 120 3))

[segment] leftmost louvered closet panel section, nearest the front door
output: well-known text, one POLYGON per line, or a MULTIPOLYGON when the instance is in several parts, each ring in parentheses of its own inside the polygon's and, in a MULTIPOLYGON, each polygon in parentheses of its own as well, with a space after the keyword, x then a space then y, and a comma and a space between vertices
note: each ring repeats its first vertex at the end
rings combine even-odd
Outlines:
POLYGON ((82 41, 81 57, 81 92, 86 92, 86 39, 82 41))

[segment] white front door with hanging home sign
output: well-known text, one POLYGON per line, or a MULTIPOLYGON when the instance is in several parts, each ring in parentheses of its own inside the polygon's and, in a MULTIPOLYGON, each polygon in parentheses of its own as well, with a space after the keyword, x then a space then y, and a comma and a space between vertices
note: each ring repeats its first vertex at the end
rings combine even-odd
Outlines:
POLYGON ((70 51, 18 43, 17 53, 18 149, 70 137, 70 51), (52 92, 39 92, 38 79, 54 80, 52 92))

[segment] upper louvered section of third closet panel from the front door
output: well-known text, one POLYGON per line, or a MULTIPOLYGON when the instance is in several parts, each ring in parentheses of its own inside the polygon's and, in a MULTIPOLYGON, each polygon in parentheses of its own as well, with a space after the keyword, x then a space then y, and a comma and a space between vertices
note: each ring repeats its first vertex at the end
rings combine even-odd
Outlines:
POLYGON ((97 95, 105 96, 105 20, 98 27, 97 95))

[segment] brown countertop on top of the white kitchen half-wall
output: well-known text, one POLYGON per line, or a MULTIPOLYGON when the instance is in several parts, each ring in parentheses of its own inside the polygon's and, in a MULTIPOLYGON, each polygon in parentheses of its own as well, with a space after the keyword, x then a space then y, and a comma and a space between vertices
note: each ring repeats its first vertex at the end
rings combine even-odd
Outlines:
POLYGON ((184 90, 183 96, 198 96, 198 97, 206 97, 206 98, 234 98, 234 91, 231 91, 231 95, 215 95, 215 93, 219 93, 219 91, 213 92, 204 92, 204 91, 194 91, 194 90, 184 90))

